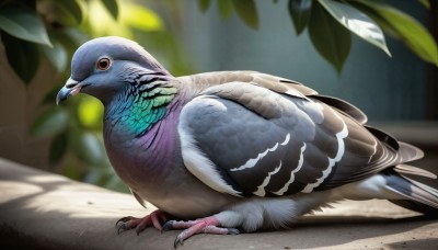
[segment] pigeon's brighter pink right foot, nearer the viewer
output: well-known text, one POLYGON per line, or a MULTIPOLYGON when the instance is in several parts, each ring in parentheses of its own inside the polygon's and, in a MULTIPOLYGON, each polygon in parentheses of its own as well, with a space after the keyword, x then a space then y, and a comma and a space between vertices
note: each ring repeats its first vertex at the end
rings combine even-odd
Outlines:
POLYGON ((171 229, 185 229, 175 239, 173 246, 177 248, 183 245, 184 240, 197 234, 211 234, 211 235, 239 235, 240 231, 235 228, 218 227, 220 223, 215 217, 206 217, 189 221, 169 220, 163 225, 162 231, 171 229))

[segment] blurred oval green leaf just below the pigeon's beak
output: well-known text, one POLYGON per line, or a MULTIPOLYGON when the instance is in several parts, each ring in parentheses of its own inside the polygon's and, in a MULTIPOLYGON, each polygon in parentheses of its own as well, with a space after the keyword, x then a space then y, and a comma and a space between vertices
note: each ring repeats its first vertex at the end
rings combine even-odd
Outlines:
POLYGON ((67 111, 53 106, 36 117, 31 126, 31 134, 34 136, 53 136, 64 132, 69 122, 67 111))

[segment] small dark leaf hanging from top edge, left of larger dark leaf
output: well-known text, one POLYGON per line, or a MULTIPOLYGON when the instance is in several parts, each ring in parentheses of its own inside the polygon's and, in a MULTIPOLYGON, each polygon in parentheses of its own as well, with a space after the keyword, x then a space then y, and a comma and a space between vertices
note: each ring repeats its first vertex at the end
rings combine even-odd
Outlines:
POLYGON ((310 20, 312 0, 289 0, 289 15, 292 18, 297 35, 304 31, 310 20))

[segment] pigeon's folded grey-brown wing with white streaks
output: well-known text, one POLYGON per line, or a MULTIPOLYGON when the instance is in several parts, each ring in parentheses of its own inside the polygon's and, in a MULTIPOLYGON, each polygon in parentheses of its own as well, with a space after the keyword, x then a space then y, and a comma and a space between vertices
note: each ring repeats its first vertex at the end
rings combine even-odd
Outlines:
POLYGON ((265 196, 332 189, 423 156, 364 126, 367 116, 356 106, 291 80, 224 71, 183 83, 199 91, 181 114, 178 130, 191 132, 197 149, 183 141, 184 162, 203 156, 186 167, 219 192, 265 196))

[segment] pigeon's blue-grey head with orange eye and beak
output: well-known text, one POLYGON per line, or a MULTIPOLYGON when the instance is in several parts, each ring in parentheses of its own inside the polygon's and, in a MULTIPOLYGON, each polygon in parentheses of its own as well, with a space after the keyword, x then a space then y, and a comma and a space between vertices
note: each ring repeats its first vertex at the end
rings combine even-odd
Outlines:
POLYGON ((115 93, 138 80, 151 82, 170 78, 172 76, 137 43, 116 36, 100 37, 84 43, 74 53, 71 76, 58 92, 56 102, 82 92, 105 104, 115 93))

